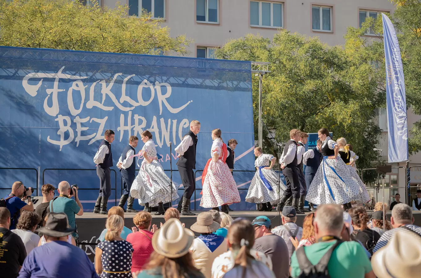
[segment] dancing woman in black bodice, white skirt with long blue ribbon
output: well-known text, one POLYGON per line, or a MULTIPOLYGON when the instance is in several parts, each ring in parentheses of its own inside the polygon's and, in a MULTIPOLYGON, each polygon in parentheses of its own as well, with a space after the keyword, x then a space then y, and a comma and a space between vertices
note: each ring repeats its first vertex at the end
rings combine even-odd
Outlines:
POLYGON ((323 161, 310 184, 306 200, 316 204, 347 204, 357 198, 359 186, 351 177, 349 168, 339 157, 338 144, 329 136, 327 129, 320 129, 323 161))

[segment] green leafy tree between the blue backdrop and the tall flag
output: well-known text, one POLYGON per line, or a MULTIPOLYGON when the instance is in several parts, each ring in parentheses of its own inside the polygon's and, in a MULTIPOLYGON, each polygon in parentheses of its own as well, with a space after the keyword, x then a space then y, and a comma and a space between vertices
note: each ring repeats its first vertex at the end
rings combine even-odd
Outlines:
MULTIPOLYGON (((248 34, 216 51, 218 58, 270 62, 263 78, 263 121, 276 130, 276 140, 289 139, 290 129, 345 137, 360 154, 359 168, 371 168, 380 129, 373 121, 384 101, 378 93, 376 69, 362 53, 330 47, 318 38, 280 30, 273 39, 248 34)), ((258 121, 258 77, 253 76, 254 121, 258 121)), ((264 130, 266 131, 266 130, 264 130)), ((255 130, 257 136, 257 130, 255 130)), ((270 135, 264 148, 274 155, 270 135)))

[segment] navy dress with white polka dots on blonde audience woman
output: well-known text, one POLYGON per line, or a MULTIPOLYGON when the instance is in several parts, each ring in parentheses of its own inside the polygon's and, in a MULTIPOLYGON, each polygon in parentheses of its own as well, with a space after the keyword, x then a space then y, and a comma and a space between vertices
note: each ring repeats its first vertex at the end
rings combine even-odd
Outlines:
POLYGON ((131 278, 133 247, 125 240, 103 241, 96 247, 102 250, 101 278, 131 278))

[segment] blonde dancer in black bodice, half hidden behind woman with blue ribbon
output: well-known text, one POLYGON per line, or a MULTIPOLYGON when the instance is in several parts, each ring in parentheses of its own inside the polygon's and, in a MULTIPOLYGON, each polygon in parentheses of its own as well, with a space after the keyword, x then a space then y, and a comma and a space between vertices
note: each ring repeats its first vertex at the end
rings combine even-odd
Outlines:
MULTIPOLYGON (((349 168, 349 172, 351 173, 352 179, 358 184, 360 187, 357 200, 360 200, 362 203, 370 202, 370 196, 368 195, 367 189, 365 188, 364 183, 361 181, 361 178, 358 176, 357 171, 352 167, 350 164, 350 161, 352 157, 356 157, 355 152, 349 149, 348 146, 346 146, 346 139, 344 137, 338 138, 336 140, 339 147, 339 155, 341 156, 342 160, 344 160, 344 163, 346 164, 346 167, 349 168)), ((347 203, 344 205, 344 210, 349 210, 351 208, 351 203, 347 203)))

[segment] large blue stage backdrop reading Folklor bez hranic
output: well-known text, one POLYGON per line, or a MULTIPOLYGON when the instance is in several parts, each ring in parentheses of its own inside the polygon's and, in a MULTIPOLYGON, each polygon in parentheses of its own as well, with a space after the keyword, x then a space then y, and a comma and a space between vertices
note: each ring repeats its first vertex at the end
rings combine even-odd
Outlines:
MULTIPOLYGON (((201 175, 210 158, 212 129, 222 130, 224 142, 238 141, 235 169, 244 171, 234 173, 239 189, 247 189, 253 177, 250 62, 0 47, 0 79, 0 167, 35 168, 39 178, 36 184, 35 170, 1 169, 1 197, 10 192, 4 188, 13 181, 37 187, 41 195, 43 183, 57 187, 66 180, 83 189, 84 209, 92 211, 99 189, 93 156, 106 129, 115 131, 111 176, 112 188, 117 189, 109 202, 114 204, 121 195, 115 165, 123 147, 129 136, 140 139, 146 129, 163 155, 163 168, 170 169, 172 158, 173 180, 181 183, 174 148, 192 120, 202 124, 193 209, 200 209, 201 175)), ((142 146, 139 140, 136 152, 142 146)), ((240 191, 242 200, 246 193, 240 191)), ((254 205, 242 201, 233 208, 254 205)))

